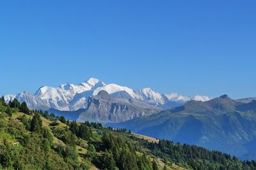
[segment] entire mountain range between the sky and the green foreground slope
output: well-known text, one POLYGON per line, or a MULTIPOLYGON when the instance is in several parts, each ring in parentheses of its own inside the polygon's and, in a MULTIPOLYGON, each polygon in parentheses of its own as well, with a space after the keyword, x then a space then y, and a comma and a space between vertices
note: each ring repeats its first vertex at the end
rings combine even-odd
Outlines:
POLYGON ((159 139, 203 146, 256 159, 256 98, 230 99, 227 95, 186 97, 160 94, 150 88, 133 90, 96 78, 74 85, 40 87, 17 98, 29 108, 47 110, 78 122, 100 122, 114 128, 159 139))

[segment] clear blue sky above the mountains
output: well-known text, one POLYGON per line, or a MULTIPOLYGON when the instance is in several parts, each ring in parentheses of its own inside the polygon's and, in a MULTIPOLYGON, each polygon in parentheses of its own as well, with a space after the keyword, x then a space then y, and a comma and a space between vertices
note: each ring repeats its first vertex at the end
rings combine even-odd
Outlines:
POLYGON ((256 97, 256 1, 1 1, 0 94, 90 77, 256 97))

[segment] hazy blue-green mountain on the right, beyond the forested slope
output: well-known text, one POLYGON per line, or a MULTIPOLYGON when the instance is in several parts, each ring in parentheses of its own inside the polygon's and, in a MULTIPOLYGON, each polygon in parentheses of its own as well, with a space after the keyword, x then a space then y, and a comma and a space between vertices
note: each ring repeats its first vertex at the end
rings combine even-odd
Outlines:
POLYGON ((225 95, 206 102, 188 101, 172 110, 108 125, 256 159, 255 100, 241 103, 225 95))

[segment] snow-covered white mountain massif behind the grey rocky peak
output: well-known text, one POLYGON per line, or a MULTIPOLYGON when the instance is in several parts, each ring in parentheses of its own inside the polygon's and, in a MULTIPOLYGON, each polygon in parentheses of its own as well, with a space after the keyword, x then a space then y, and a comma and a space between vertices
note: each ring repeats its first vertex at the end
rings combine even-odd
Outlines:
POLYGON ((129 87, 123 87, 114 83, 106 84, 97 78, 90 78, 83 83, 74 85, 72 83, 61 84, 58 87, 40 87, 35 94, 22 92, 17 95, 6 95, 6 102, 14 98, 20 102, 26 101, 28 106, 33 109, 53 108, 63 111, 74 111, 86 108, 90 96, 96 96, 100 91, 105 90, 111 97, 131 98, 145 101, 148 104, 158 106, 159 108, 172 108, 179 106, 186 101, 208 101, 208 96, 179 96, 176 93, 160 94, 150 88, 133 90, 129 87))

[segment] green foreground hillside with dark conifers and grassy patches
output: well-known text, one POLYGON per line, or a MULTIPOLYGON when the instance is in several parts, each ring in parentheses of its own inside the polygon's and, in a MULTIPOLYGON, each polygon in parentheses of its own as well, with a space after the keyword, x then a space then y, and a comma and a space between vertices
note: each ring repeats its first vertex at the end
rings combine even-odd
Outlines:
POLYGON ((0 99, 0 169, 256 169, 221 152, 77 123, 0 99))

